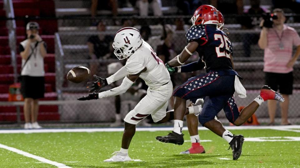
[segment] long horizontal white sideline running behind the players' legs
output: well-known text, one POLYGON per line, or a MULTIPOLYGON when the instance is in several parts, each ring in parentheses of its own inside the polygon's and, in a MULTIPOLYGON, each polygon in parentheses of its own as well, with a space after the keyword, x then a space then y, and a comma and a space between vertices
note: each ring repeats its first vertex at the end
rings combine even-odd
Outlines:
MULTIPOLYGON (((227 126, 229 130, 243 130, 243 129, 274 129, 281 131, 300 132, 300 125, 287 125, 287 126, 227 126)), ((172 131, 173 127, 148 127, 136 128, 136 131, 172 131)), ((187 130, 187 127, 183 127, 187 130)), ((198 130, 208 130, 205 127, 198 127, 198 130)), ((2 129, 0 133, 74 133, 74 132, 122 132, 124 128, 59 128, 59 129, 2 129)))

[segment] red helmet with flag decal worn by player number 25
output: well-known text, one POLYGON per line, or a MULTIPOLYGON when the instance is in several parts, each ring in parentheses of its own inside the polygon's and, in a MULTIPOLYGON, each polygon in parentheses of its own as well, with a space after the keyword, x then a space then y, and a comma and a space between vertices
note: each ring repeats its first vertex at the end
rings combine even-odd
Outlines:
POLYGON ((191 21, 193 25, 217 25, 219 24, 219 11, 211 5, 201 5, 194 12, 191 21))

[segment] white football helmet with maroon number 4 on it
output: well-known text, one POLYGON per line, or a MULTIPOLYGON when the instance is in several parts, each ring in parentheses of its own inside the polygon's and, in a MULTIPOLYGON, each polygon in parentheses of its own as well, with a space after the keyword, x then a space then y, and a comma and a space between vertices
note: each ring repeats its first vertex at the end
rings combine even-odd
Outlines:
POLYGON ((140 31, 133 27, 124 27, 117 31, 113 40, 113 52, 120 60, 132 55, 141 46, 143 40, 140 31))

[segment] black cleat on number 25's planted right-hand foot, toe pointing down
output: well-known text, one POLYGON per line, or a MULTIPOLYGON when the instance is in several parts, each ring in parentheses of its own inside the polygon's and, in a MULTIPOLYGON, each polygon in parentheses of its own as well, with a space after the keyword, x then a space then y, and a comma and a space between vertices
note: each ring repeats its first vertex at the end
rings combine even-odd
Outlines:
MULTIPOLYGON (((233 160, 237 160, 242 154, 242 146, 244 143, 244 136, 242 135, 233 135, 233 139, 229 143, 232 149, 233 160)), ((230 149, 229 147, 229 149, 230 149)))

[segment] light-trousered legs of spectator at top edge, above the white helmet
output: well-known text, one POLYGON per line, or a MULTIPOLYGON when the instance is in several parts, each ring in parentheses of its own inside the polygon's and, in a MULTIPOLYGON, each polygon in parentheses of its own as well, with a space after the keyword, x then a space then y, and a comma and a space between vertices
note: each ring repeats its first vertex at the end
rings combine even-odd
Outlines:
POLYGON ((161 0, 139 0, 137 6, 139 8, 140 16, 148 16, 149 3, 152 6, 154 16, 162 16, 162 2, 161 0))

